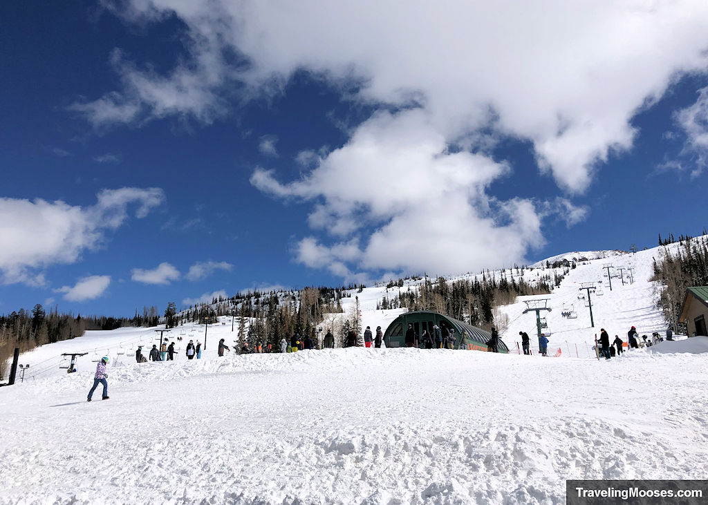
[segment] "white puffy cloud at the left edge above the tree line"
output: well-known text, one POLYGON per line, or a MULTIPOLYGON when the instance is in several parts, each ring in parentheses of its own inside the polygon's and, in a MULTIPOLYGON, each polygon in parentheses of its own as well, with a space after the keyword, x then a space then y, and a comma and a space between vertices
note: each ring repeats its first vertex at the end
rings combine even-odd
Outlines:
POLYGON ((129 206, 137 204, 136 216, 144 218, 164 198, 157 187, 103 190, 91 207, 60 200, 0 198, 0 236, 11 244, 0 248, 0 280, 43 285, 40 269, 78 261, 84 250, 103 245, 106 230, 125 222, 129 206))

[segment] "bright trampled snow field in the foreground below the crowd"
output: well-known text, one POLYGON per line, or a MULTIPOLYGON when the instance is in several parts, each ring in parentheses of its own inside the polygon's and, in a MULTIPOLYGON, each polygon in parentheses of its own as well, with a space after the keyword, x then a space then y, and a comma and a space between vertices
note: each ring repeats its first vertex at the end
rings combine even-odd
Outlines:
POLYGON ((110 366, 91 403, 92 370, 38 378, 0 389, 0 504, 537 504, 571 478, 704 479, 707 364, 228 355, 110 366))

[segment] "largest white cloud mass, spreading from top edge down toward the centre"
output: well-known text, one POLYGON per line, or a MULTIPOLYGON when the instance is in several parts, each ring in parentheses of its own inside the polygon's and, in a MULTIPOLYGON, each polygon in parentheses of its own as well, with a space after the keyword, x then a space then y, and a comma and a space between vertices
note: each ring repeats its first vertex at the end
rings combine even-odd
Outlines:
MULTIPOLYGON (((233 90, 280 93, 302 70, 376 110, 346 129, 341 149, 303 151, 301 180, 263 168, 251 177, 275 197, 312 202, 309 225, 332 239, 302 239, 297 257, 350 277, 523 260, 557 202, 489 195, 510 171, 489 149, 524 141, 565 196, 582 193, 612 151, 632 148, 632 117, 708 66, 708 4, 697 0, 126 0, 113 11, 129 23, 177 16, 189 57, 157 74, 115 52, 121 88, 75 105, 94 125, 209 123, 233 90)), ((569 224, 583 219, 571 210, 569 224)))

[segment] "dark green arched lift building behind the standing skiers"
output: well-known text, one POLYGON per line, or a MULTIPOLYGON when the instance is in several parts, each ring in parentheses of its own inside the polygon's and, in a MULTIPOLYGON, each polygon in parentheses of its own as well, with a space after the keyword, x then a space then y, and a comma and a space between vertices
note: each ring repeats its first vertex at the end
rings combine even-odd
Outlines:
MULTIPOLYGON (((491 333, 482 330, 476 326, 468 325, 455 318, 450 318, 447 315, 442 315, 439 312, 431 312, 430 310, 416 310, 406 312, 394 319, 389 327, 384 332, 384 342, 387 347, 406 347, 406 330, 408 325, 413 325, 418 337, 421 336, 423 330, 428 330, 430 335, 433 333, 433 325, 438 327, 447 327, 449 330, 454 330, 455 349, 469 349, 470 351, 486 351, 486 342, 489 342, 491 333), (460 338, 462 335, 462 338, 460 338)), ((423 347, 422 342, 418 339, 420 347, 423 347)), ((498 351, 508 353, 509 348, 499 339, 498 351)))

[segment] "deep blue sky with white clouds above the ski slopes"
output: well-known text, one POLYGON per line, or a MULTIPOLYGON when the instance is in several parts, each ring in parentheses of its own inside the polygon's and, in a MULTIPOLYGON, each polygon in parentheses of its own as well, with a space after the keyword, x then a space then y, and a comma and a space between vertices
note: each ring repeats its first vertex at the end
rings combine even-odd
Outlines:
POLYGON ((0 6, 0 313, 653 247, 705 219, 698 1, 0 6))

